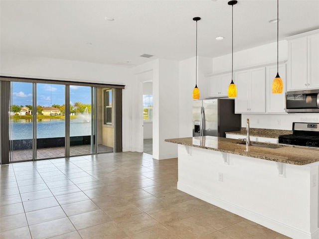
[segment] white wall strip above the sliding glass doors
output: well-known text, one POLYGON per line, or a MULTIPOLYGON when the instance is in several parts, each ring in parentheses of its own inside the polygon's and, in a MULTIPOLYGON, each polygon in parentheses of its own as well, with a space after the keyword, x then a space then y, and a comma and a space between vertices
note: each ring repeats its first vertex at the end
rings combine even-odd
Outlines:
POLYGON ((1 52, 2 76, 67 80, 92 83, 130 83, 130 70, 126 67, 34 57, 1 52))

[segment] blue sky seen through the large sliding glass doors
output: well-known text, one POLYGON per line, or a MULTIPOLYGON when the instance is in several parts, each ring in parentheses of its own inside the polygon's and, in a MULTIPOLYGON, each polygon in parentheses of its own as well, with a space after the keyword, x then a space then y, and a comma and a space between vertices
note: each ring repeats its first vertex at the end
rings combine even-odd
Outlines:
MULTIPOLYGON (((63 105, 64 85, 56 84, 36 84, 37 99, 36 105, 50 107, 52 105, 63 105)), ((11 105, 26 106, 32 105, 32 83, 12 82, 12 103, 11 105)), ((81 102, 91 104, 91 87, 70 86, 70 104, 81 102)))

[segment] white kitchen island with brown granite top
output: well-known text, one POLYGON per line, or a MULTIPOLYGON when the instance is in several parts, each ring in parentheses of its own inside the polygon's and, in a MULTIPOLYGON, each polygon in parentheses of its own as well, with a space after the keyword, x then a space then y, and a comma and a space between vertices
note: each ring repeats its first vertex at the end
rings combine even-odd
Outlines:
POLYGON ((294 239, 319 239, 319 149, 214 136, 178 144, 177 188, 294 239), (254 143, 254 142, 252 142, 254 143))

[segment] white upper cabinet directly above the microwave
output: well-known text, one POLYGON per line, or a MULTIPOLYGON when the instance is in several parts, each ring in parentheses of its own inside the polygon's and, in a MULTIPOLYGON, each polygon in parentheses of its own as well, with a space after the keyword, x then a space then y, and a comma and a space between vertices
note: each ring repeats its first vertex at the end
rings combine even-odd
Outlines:
POLYGON ((287 90, 319 89, 319 30, 288 40, 287 90))

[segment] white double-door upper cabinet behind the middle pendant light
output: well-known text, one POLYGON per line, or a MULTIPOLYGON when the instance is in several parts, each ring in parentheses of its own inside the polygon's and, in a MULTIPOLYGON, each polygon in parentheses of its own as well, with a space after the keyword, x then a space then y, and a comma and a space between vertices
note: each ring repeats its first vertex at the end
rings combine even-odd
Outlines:
POLYGON ((236 114, 266 112, 265 67, 236 71, 234 83, 237 87, 236 114))

